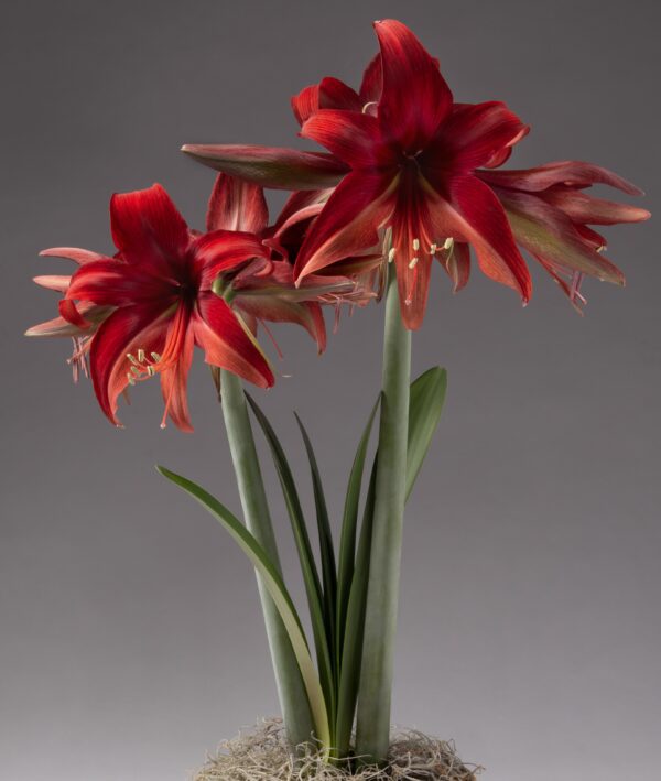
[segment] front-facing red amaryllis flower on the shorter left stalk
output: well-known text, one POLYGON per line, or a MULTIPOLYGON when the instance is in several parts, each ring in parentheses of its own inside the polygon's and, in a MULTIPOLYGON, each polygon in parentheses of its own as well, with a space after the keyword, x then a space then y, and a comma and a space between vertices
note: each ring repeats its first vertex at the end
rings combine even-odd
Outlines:
POLYGON ((212 290, 221 271, 263 257, 262 242, 241 231, 194 234, 160 185, 113 195, 110 220, 118 253, 86 257, 88 262, 63 282, 59 305, 78 338, 93 334, 90 373, 110 421, 119 424, 117 399, 129 384, 160 375, 162 425, 170 416, 189 431, 186 380, 194 345, 204 349, 208 364, 262 388, 273 384, 254 338, 212 290), (95 307, 110 307, 100 325, 90 317, 90 312, 98 313, 95 307))

